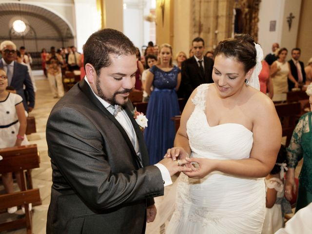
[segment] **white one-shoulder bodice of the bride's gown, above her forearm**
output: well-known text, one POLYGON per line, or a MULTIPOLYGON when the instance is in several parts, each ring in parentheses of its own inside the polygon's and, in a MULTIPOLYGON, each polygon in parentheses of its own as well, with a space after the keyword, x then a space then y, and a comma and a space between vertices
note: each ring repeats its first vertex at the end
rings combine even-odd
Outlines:
POLYGON ((194 112, 187 122, 189 137, 194 157, 213 159, 242 159, 250 156, 253 146, 253 133, 241 124, 226 123, 209 126, 205 109, 209 84, 197 87, 194 112))

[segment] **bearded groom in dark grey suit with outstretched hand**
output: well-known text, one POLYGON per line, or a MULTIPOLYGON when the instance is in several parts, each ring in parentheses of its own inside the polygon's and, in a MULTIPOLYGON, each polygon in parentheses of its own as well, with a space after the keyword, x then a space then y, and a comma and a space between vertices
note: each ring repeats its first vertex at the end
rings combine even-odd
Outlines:
POLYGON ((47 234, 140 234, 153 221, 153 197, 170 176, 189 171, 171 158, 149 165, 128 100, 135 85, 136 48, 104 29, 84 45, 86 77, 54 106, 47 122, 53 169, 47 234))

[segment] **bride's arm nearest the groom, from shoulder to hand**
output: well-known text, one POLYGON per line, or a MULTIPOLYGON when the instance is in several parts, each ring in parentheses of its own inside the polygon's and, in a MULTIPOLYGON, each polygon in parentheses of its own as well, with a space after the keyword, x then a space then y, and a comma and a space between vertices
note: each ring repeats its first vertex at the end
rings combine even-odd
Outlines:
POLYGON ((189 137, 186 133, 186 122, 190 118, 191 114, 194 111, 195 105, 192 102, 192 98, 195 97, 197 91, 196 89, 191 94, 190 98, 188 99, 184 110, 181 115, 180 119, 180 127, 176 132, 176 138, 174 143, 174 148, 168 149, 166 156, 172 157, 173 160, 176 158, 184 159, 191 155, 191 148, 189 144, 189 137))

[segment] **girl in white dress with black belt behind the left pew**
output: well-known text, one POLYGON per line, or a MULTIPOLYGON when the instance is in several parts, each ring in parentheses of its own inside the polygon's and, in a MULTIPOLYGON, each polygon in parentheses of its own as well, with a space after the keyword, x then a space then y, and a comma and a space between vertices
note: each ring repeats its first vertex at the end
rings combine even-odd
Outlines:
MULTIPOLYGON (((0 68, 0 149, 28 144, 22 98, 20 95, 9 93, 6 90, 7 86, 8 77, 3 68, 0 68)), ((20 186, 20 174, 15 173, 15 176, 20 186)), ((2 174, 2 182, 6 193, 14 192, 12 173, 2 174)), ((10 207, 8 213, 12 214, 17 210, 17 206, 10 207)))

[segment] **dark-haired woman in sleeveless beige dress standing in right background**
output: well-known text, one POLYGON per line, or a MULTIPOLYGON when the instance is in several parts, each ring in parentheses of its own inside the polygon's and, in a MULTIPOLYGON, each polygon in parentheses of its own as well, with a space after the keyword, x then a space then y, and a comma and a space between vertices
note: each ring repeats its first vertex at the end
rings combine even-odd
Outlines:
POLYGON ((277 60, 272 63, 271 66, 271 77, 273 81, 273 100, 280 101, 283 99, 283 93, 288 92, 288 78, 292 80, 297 88, 298 82, 293 78, 290 65, 286 61, 288 50, 281 48, 277 53, 277 60))

